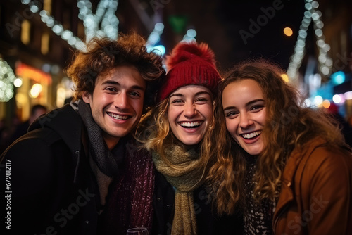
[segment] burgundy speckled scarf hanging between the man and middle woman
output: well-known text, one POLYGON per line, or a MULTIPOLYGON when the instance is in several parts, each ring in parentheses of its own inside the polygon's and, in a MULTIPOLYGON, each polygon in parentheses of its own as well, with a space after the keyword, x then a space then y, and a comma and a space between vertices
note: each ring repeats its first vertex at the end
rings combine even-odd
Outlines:
POLYGON ((153 221, 154 168, 151 154, 137 150, 137 143, 126 145, 123 169, 109 188, 99 222, 99 234, 125 235, 127 229, 146 227, 153 221))

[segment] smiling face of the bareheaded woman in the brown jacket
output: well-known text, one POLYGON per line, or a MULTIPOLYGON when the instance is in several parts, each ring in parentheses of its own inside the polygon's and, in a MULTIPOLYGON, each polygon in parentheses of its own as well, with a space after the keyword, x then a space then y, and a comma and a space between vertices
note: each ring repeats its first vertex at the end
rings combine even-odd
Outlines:
POLYGON ((259 155, 264 148, 265 101, 259 84, 251 79, 232 82, 222 92, 227 131, 244 151, 259 155))

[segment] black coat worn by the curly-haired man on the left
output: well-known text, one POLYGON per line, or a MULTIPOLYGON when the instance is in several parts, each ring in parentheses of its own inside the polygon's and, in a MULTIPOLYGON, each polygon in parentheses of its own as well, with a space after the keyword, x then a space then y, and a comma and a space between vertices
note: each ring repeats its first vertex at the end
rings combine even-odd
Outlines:
POLYGON ((11 234, 96 234, 99 190, 80 115, 67 105, 30 130, 1 155, 1 179, 11 174, 11 208, 1 210, 11 213, 11 234))

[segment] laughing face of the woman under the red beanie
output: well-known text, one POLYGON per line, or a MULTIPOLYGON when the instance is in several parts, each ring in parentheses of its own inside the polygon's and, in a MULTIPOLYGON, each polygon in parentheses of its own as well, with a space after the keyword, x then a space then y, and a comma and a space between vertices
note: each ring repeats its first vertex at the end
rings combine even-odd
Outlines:
POLYGON ((180 87, 169 96, 168 120, 172 133, 183 144, 198 144, 213 120, 213 99, 208 88, 180 87))

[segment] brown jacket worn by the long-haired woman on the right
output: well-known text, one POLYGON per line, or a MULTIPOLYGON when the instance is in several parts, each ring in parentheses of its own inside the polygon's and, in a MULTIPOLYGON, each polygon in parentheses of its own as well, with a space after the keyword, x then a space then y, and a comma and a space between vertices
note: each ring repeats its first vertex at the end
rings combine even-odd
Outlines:
POLYGON ((276 235, 352 234, 352 155, 314 139, 294 150, 273 218, 276 235))

